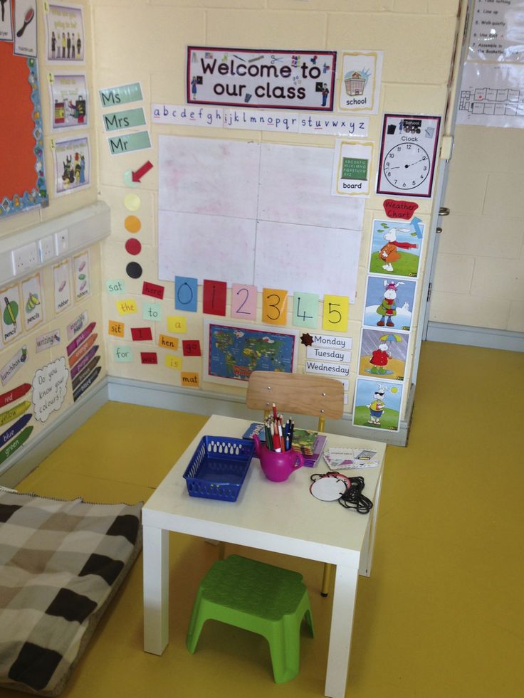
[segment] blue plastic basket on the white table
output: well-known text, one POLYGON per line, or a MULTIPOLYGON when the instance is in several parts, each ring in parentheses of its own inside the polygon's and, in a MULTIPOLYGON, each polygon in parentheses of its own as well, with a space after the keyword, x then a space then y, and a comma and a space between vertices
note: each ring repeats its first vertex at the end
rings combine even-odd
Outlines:
POLYGON ((203 436, 184 472, 189 495, 236 502, 254 449, 251 439, 203 436))

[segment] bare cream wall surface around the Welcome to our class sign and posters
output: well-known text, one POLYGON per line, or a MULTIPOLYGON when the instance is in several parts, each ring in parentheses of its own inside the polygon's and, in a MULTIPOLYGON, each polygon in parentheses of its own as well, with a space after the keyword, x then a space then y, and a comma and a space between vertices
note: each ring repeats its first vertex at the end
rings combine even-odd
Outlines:
MULTIPOLYGON (((148 118, 152 102, 184 104, 185 55, 187 45, 191 44, 239 48, 298 47, 336 51, 353 48, 384 51, 379 115, 370 117, 369 137, 376 143, 379 142, 382 112, 404 110, 441 115, 446 108, 459 0, 441 0, 439 3, 429 0, 92 0, 91 4, 95 90, 140 81, 148 118)), ((100 124, 101 109, 98 102, 96 107, 96 118, 100 124)), ((136 300, 138 307, 138 316, 120 317, 115 305, 115 300, 118 299, 109 294, 105 296, 105 324, 110 320, 121 320, 126 325, 123 339, 106 336, 108 370, 113 376, 179 386, 179 371, 163 365, 165 351, 157 346, 159 333, 166 332, 165 317, 181 314, 174 311, 174 284, 166 284, 166 295, 162 302, 162 322, 147 323, 141 315, 142 302, 145 300, 141 295, 142 282, 158 282, 158 135, 258 139, 318 147, 333 147, 335 139, 315 135, 268 134, 232 129, 228 130, 225 136, 221 129, 166 125, 154 125, 150 130, 152 150, 118 156, 110 155, 107 139, 101 129, 98 134, 100 197, 110 205, 112 211, 112 236, 103 244, 103 278, 124 279, 126 292, 120 298, 130 297, 136 300), (128 189, 123 181, 124 172, 136 169, 146 159, 151 160, 154 169, 145 176, 138 189, 128 189), (144 271, 139 280, 131 280, 125 275, 125 266, 132 258, 124 248, 125 240, 129 237, 124 227, 125 217, 129 215, 124 199, 131 191, 139 194, 142 201, 140 211, 136 213, 142 222, 142 230, 138 234, 142 243, 142 253, 140 258, 136 259, 144 271), (153 341, 132 342, 130 326, 147 324, 152 327, 153 341), (117 347, 130 347, 134 355, 132 363, 120 363, 112 359, 117 347), (142 366, 140 351, 157 351, 159 365, 142 366)), ((376 149, 375 159, 377 154, 376 149)), ((376 171, 376 162, 374 166, 376 171)), ((357 302, 350 306, 347 332, 353 338, 354 347, 347 411, 352 411, 372 220, 384 218, 382 201, 383 197, 370 196, 366 203, 359 290, 357 302)), ((432 202, 421 199, 418 203, 417 215, 426 223, 426 231, 429 233, 432 202)), ((423 260, 422 272, 424 264, 423 260)), ((419 297, 416 299, 416 307, 418 305, 419 297)), ((321 310, 322 308, 319 313, 320 319, 321 310)), ((203 342, 201 287, 198 312, 188 313, 186 317, 188 329, 185 337, 201 339, 203 342)), ((416 329, 418 328, 415 328, 414 332, 416 329)), ((320 324, 318 330, 322 331, 320 324)), ((407 374, 412 369, 413 347, 414 342, 407 374)), ((300 347, 299 366, 303 365, 305 359, 304 350, 304 347, 300 347)), ((182 351, 176 353, 182 356, 182 351)), ((201 373, 202 361, 197 358, 184 358, 183 369, 201 373)), ((243 395, 239 388, 224 388, 211 383, 203 383, 201 387, 209 391, 219 390, 221 393, 243 395)), ((407 392, 405 391, 405 397, 407 392)))

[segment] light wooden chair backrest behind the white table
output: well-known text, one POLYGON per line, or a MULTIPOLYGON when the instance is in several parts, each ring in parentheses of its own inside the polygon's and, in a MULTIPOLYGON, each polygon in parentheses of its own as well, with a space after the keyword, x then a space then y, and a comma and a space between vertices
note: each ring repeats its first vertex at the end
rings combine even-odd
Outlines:
POLYGON ((246 405, 254 410, 271 411, 273 403, 279 412, 318 417, 318 430, 324 431, 326 417, 340 419, 344 413, 344 385, 323 376, 253 371, 249 376, 246 405))

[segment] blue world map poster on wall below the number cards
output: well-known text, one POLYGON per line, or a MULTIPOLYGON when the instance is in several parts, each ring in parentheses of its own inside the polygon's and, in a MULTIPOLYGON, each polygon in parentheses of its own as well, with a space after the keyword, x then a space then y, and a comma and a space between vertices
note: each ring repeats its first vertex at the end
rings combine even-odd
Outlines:
POLYGON ((298 337, 293 330, 206 324, 206 380, 248 381, 253 371, 293 371, 298 337))

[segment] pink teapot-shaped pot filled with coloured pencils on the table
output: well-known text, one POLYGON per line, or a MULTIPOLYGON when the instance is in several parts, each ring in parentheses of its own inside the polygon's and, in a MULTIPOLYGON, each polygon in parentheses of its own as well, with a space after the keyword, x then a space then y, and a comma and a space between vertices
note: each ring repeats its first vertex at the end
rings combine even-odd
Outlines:
POLYGON ((264 423, 266 443, 253 434, 255 453, 260 459, 262 472, 272 482, 284 482, 292 472, 304 465, 302 453, 293 449, 293 423, 283 424, 281 416, 273 413, 264 423))

